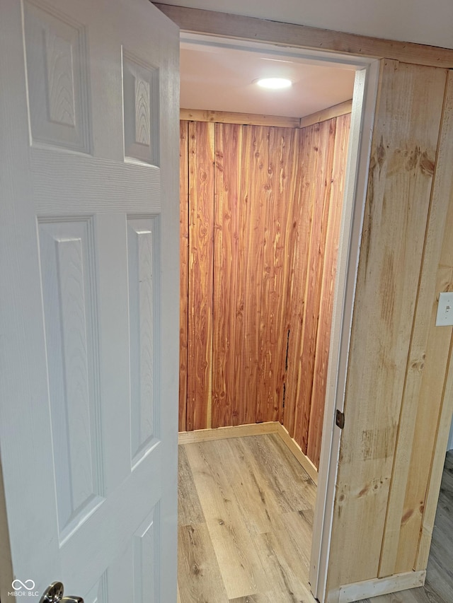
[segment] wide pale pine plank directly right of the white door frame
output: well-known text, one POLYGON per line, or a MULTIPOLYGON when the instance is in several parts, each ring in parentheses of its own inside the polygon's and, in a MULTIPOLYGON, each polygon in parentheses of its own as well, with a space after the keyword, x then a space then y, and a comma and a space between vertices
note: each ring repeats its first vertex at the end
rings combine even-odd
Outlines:
POLYGON ((392 61, 382 69, 328 590, 378 575, 445 82, 444 69, 392 61))

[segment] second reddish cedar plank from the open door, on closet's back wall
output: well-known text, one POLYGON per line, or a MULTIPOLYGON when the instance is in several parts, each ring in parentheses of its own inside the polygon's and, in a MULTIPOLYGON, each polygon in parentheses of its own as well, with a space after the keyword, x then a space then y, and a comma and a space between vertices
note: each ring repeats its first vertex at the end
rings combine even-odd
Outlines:
POLYGON ((188 431, 211 427, 214 124, 189 123, 188 431))

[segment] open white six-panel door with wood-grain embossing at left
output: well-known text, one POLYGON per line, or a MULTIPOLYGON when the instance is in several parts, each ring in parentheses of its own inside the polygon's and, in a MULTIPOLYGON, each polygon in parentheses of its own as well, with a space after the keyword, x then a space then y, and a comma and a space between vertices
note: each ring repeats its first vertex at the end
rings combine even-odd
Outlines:
POLYGON ((148 0, 1 0, 2 603, 176 602, 178 53, 148 0))

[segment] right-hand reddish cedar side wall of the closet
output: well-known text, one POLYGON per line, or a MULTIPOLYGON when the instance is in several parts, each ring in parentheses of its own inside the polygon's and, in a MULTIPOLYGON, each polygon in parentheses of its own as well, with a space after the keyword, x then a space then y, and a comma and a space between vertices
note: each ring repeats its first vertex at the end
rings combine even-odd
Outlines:
POLYGON ((316 467, 321 449, 349 122, 350 117, 346 116, 304 128, 299 146, 299 192, 294 199, 289 258, 289 339, 283 425, 316 467))

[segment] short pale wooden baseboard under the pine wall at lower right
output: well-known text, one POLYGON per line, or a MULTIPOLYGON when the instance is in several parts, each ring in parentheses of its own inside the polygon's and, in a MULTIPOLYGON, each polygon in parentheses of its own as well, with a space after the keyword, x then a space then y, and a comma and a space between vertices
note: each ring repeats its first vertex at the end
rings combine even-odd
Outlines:
POLYGON ((355 582, 340 587, 338 603, 352 603, 378 595, 389 595, 391 592, 407 590, 425 584, 426 570, 418 572, 405 572, 388 576, 387 578, 374 578, 364 582, 355 582))

